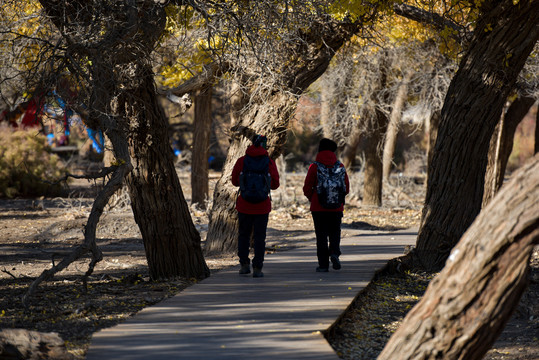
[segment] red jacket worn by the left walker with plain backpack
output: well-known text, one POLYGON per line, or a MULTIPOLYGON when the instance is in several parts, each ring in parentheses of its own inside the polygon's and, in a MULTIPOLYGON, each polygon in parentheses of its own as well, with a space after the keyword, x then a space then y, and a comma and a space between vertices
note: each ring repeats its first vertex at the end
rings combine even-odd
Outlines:
MULTIPOLYGON (((251 145, 247 148, 245 154, 253 157, 260 155, 267 156, 268 152, 262 146, 257 147, 251 145)), ((234 165, 234 169, 232 170, 232 185, 234 186, 240 186, 240 173, 243 170, 244 158, 245 156, 239 158, 238 161, 236 161, 236 165, 234 165)), ((275 190, 279 187, 279 172, 277 171, 275 162, 271 158, 269 162, 269 173, 271 175, 270 188, 275 190)), ((271 211, 271 199, 268 197, 261 203, 253 204, 244 200, 241 195, 238 195, 238 200, 236 200, 236 210, 244 214, 269 214, 271 211)))

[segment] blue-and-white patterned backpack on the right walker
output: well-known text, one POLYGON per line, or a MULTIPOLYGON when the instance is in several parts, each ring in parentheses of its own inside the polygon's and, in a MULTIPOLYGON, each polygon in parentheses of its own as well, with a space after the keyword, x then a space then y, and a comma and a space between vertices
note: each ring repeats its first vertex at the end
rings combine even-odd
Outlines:
POLYGON ((337 161, 333 167, 328 167, 318 161, 316 177, 318 184, 316 185, 316 193, 318 201, 325 209, 337 209, 344 204, 346 196, 345 175, 346 170, 341 163, 337 161))

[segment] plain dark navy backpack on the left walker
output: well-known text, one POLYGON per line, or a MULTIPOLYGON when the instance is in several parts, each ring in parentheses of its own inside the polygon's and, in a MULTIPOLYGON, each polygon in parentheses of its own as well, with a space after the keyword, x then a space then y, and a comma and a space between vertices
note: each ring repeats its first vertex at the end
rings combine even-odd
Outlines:
POLYGON ((246 155, 243 158, 243 169, 240 173, 241 197, 253 204, 260 203, 268 198, 270 184, 269 157, 246 155))

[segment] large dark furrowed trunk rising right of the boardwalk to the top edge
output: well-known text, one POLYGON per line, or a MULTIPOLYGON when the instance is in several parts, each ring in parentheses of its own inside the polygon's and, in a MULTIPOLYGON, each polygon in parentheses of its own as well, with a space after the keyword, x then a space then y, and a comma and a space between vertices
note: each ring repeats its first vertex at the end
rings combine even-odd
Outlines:
POLYGON ((481 210, 490 139, 539 37, 539 1, 488 1, 482 10, 451 81, 428 171, 416 255, 429 270, 444 266, 481 210))

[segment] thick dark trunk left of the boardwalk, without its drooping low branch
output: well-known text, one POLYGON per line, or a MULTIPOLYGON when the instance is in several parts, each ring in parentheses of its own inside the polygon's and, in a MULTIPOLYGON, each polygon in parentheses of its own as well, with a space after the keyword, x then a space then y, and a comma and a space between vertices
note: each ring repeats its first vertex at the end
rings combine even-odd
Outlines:
POLYGON ((87 71, 91 72, 87 125, 103 129, 114 146, 116 159, 127 163, 129 169, 134 166, 126 183, 150 276, 208 276, 200 234, 191 220, 174 168, 168 121, 157 102, 148 64, 166 25, 164 6, 150 0, 115 2, 110 11, 99 12, 98 7, 85 2, 40 3, 66 38, 70 54, 65 59, 76 62, 68 68, 78 71, 83 64, 89 66, 76 74, 87 78, 87 71), (95 21, 107 23, 101 31, 88 33, 95 21), (125 146, 124 150, 126 142, 129 149, 125 146), (125 160, 129 158, 131 164, 125 160))

